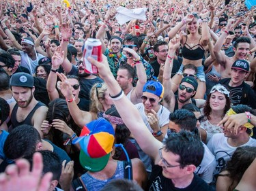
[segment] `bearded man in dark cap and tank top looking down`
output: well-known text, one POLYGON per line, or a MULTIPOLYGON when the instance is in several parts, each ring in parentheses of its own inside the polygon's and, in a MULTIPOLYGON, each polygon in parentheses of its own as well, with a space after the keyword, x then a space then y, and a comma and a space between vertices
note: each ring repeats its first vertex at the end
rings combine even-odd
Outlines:
POLYGON ((29 124, 36 128, 43 137, 41 124, 46 118, 48 108, 33 97, 35 86, 33 86, 32 75, 24 72, 15 73, 10 79, 10 86, 16 101, 10 105, 12 128, 21 124, 29 124))

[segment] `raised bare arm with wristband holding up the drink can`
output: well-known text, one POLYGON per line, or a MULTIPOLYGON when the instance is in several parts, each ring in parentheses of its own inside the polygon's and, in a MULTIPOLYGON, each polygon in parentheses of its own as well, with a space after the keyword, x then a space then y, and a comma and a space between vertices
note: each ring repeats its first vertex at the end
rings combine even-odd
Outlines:
POLYGON ((108 86, 109 94, 112 97, 115 97, 113 99, 113 102, 115 104, 115 107, 117 108, 118 113, 124 120, 126 126, 130 129, 132 135, 134 135, 134 138, 139 143, 139 146, 141 147, 143 152, 153 158, 155 164, 158 164, 158 162, 160 161, 158 150, 160 149, 160 147, 162 147, 162 143, 153 137, 152 133, 150 133, 150 131, 145 126, 145 123, 143 122, 139 111, 127 99, 127 97, 124 96, 124 92, 122 91, 110 71, 106 56, 102 56, 102 63, 98 63, 91 57, 89 58, 89 61, 91 61, 93 65, 98 67, 100 77, 102 77, 102 79, 108 86))

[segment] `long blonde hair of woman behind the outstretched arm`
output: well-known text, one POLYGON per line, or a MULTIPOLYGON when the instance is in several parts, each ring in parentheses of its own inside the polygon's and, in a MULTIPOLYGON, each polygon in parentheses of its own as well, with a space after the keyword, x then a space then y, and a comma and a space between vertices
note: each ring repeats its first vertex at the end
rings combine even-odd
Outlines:
POLYGON ((107 87, 105 83, 97 83, 91 87, 90 111, 94 113, 98 113, 98 111, 103 111, 103 107, 102 107, 102 103, 100 103, 100 99, 104 99, 104 92, 106 92, 106 90, 107 90, 107 87))

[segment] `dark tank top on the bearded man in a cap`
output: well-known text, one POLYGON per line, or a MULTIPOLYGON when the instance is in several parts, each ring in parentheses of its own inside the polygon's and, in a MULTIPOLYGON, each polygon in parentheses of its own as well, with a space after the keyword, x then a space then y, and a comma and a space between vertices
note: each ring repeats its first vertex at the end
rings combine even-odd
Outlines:
POLYGON ((14 106, 14 109, 12 109, 12 114, 11 114, 11 122, 12 122, 12 128, 15 128, 16 126, 22 125, 22 124, 28 124, 33 126, 31 119, 33 117, 33 114, 35 113, 35 110, 38 109, 39 107, 46 106, 44 103, 38 101, 38 103, 33 107, 32 111, 30 111, 29 115, 27 115, 27 118, 23 120, 22 122, 17 121, 17 110, 18 110, 18 104, 14 106))

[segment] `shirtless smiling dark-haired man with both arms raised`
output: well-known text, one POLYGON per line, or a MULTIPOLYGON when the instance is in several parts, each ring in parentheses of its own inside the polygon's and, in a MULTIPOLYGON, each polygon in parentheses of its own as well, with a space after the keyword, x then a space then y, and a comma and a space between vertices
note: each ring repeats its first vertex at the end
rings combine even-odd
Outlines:
MULTIPOLYGON (((218 41, 216 41, 216 44, 214 46, 214 54, 216 56, 216 60, 219 65, 221 65, 220 73, 221 73, 221 79, 223 78, 230 78, 231 77, 231 66, 236 60, 244 60, 246 59, 246 56, 248 55, 248 52, 256 46, 255 41, 251 37, 250 33, 248 32, 248 29, 246 26, 242 27, 242 33, 246 35, 247 37, 239 37, 236 39, 235 44, 233 45, 235 55, 232 57, 228 57, 225 55, 224 52, 221 51, 221 47, 223 46, 223 43, 225 41, 225 38, 227 35, 229 35, 229 31, 231 30, 232 24, 234 20, 229 19, 227 22, 227 27, 225 29, 225 32, 222 33, 221 37, 219 37, 218 41)), ((254 53, 249 54, 248 61, 251 62, 253 60, 254 53)))

